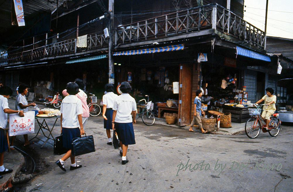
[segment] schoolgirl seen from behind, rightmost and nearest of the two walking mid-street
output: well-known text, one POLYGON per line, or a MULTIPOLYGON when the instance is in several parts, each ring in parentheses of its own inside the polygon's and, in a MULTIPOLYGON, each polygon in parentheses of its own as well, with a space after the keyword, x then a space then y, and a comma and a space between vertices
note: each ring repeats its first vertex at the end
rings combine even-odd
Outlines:
POLYGON ((122 94, 117 96, 113 106, 112 129, 116 130, 120 140, 120 155, 122 155, 122 165, 128 163, 126 153, 128 145, 135 144, 133 123, 136 123, 136 102, 128 93, 131 86, 128 82, 122 82, 120 86, 122 94))

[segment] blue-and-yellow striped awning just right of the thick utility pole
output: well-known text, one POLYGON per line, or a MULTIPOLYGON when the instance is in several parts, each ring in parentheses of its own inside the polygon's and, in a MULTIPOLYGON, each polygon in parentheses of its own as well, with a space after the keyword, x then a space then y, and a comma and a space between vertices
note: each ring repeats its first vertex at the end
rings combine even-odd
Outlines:
POLYGON ((184 49, 184 44, 179 45, 170 45, 165 47, 156 47, 156 48, 148 48, 148 49, 137 49, 137 50, 130 50, 130 51, 120 51, 114 52, 114 56, 118 55, 139 55, 145 53, 159 53, 164 51, 179 51, 184 49))

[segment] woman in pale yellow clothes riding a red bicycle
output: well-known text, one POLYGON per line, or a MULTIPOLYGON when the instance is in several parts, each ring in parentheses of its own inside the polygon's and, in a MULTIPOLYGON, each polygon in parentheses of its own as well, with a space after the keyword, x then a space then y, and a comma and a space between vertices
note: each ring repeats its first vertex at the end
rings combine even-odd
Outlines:
POLYGON ((275 113, 275 110, 276 110, 275 104, 276 104, 277 97, 273 95, 274 89, 267 88, 265 89, 265 91, 267 92, 267 94, 263 96, 263 98, 261 98, 255 104, 265 101, 265 105, 263 106, 263 113, 261 114, 261 116, 263 117, 266 123, 264 128, 268 129, 269 123, 270 123, 270 117, 272 116, 273 113, 275 113))

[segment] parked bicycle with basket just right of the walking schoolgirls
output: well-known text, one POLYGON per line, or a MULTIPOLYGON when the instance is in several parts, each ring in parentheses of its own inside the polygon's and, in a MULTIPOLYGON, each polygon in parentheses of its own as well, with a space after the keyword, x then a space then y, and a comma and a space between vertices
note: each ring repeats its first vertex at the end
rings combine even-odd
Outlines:
POLYGON ((138 106, 142 106, 142 110, 139 111, 139 113, 136 114, 135 119, 138 120, 139 116, 142 116, 142 122, 146 124, 147 126, 151 126, 155 123, 155 115, 153 114, 154 109, 154 103, 149 101, 149 96, 146 95, 147 101, 145 99, 139 100, 137 103, 138 106), (141 101, 144 101, 144 103, 140 104, 141 101))

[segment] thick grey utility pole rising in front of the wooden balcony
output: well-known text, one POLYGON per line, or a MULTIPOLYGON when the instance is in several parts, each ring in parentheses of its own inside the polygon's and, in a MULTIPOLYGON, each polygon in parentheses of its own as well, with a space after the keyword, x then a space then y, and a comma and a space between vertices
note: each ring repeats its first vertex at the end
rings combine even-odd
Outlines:
POLYGON ((110 19, 108 23, 109 31, 109 83, 114 84, 114 60, 113 60, 113 18, 114 18, 114 0, 109 0, 110 19))

